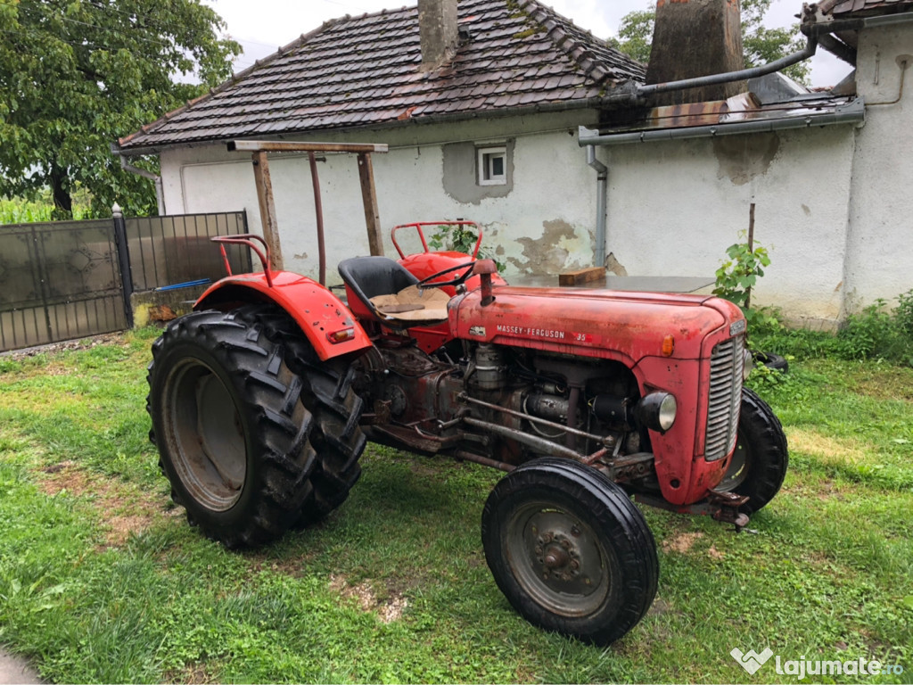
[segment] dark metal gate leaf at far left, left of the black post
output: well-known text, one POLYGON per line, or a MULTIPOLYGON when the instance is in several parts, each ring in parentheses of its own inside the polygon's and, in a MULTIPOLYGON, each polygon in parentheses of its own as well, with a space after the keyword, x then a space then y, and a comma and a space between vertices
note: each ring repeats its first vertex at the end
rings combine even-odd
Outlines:
POLYGON ((110 219, 0 228, 0 351, 126 327, 110 219))

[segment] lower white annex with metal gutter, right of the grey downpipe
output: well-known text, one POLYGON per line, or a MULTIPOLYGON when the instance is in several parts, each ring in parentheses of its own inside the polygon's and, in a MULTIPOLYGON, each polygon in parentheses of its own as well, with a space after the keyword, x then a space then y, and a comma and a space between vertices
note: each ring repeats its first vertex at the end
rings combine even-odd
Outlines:
POLYGON ((754 236, 772 263, 753 301, 833 328, 913 288, 911 9, 904 0, 806 5, 810 47, 855 66, 828 92, 771 74, 729 100, 616 115, 583 131, 581 144, 599 145, 609 169, 606 240, 627 272, 714 269, 754 205, 754 236))

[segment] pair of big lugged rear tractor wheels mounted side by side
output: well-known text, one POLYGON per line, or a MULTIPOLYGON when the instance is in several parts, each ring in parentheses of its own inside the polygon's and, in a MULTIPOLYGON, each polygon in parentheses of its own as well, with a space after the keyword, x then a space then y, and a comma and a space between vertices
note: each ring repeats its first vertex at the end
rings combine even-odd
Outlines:
POLYGON ((150 437, 173 500, 234 547, 319 521, 359 479, 352 370, 270 305, 173 321, 152 346, 150 437))

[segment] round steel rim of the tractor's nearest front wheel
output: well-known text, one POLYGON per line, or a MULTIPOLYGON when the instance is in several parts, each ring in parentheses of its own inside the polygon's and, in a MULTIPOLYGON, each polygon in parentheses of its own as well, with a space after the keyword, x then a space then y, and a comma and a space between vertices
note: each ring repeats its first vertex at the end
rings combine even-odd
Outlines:
POLYGON ((612 587, 612 565, 593 528, 553 502, 536 501, 510 517, 508 564, 540 606, 564 617, 593 614, 612 587))

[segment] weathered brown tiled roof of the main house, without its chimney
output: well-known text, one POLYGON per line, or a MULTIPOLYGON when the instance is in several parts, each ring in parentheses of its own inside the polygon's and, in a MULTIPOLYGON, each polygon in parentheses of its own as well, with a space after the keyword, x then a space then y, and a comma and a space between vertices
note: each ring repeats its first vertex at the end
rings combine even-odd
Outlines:
POLYGON ((121 138, 121 150, 572 109, 645 66, 537 0, 460 0, 452 63, 422 71, 416 7, 327 22, 202 98, 121 138))

